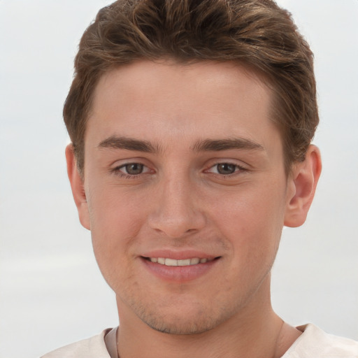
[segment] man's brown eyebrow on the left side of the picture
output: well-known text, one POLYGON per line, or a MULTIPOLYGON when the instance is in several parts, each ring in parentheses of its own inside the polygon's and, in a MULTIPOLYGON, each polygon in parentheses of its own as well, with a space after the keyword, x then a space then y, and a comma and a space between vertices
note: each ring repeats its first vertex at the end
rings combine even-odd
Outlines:
POLYGON ((159 146, 152 145, 149 141, 139 141, 134 138, 110 136, 98 145, 99 148, 113 148, 124 150, 136 150, 138 152, 157 153, 159 146))

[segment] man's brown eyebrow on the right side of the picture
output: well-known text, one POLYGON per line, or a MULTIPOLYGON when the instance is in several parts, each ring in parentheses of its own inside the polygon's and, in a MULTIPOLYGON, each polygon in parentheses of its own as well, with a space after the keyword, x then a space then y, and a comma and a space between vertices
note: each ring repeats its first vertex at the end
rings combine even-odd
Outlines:
POLYGON ((227 138, 217 140, 205 139, 204 141, 198 141, 194 144, 192 149, 195 152, 217 152, 220 150, 231 149, 264 150, 264 147, 261 144, 246 138, 227 138))

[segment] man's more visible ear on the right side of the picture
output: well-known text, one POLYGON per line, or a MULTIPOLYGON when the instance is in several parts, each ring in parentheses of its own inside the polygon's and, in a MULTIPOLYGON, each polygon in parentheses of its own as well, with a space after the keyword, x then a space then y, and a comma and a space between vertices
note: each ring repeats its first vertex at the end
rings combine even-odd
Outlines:
POLYGON ((306 221, 322 170, 320 150, 310 145, 303 162, 294 164, 287 179, 287 206, 284 224, 299 227, 306 221))

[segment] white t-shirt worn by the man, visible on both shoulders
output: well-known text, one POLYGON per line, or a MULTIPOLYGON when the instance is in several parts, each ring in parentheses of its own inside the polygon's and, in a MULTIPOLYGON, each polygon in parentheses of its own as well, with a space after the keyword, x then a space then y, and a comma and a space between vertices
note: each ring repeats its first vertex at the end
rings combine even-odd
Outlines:
MULTIPOLYGON (((358 358, 358 342, 333 336, 314 324, 297 327, 303 334, 282 358, 358 358)), ((117 358, 115 333, 106 329, 98 336, 66 345, 41 358, 117 358)))

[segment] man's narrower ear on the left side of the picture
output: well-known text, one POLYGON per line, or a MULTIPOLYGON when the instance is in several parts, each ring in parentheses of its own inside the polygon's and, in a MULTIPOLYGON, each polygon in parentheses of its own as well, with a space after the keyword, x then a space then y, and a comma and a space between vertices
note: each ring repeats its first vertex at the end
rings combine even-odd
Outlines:
POLYGON ((67 174, 71 183, 73 199, 75 200, 77 206, 80 223, 83 227, 90 230, 90 214, 88 212, 84 181, 78 171, 72 144, 66 146, 66 162, 67 174))

